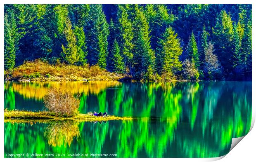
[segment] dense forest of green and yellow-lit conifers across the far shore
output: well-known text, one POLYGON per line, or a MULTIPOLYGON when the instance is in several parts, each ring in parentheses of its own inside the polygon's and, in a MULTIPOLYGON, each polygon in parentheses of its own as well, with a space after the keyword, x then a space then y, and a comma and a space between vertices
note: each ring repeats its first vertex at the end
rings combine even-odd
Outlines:
POLYGON ((251 80, 251 5, 5 5, 5 69, 98 64, 137 80, 251 80))

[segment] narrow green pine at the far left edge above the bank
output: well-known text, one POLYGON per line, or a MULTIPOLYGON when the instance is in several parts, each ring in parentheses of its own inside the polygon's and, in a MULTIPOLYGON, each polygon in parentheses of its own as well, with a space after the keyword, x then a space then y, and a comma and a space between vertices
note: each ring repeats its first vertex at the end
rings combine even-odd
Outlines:
POLYGON ((5 14, 5 70, 12 69, 15 66, 15 54, 17 49, 15 47, 15 35, 17 35, 17 31, 14 14, 13 12, 10 13, 10 18, 5 14))

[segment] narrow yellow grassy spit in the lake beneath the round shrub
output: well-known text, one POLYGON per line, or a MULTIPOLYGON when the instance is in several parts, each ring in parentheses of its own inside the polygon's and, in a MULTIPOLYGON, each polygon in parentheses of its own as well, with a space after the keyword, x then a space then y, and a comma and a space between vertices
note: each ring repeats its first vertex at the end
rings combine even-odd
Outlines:
POLYGON ((32 112, 32 111, 21 111, 21 110, 5 110, 5 122, 12 120, 77 120, 84 122, 94 122, 94 121, 107 121, 107 120, 131 120, 131 117, 116 117, 116 116, 107 116, 107 117, 96 117, 91 113, 88 114, 78 114, 72 117, 64 117, 57 115, 55 113, 50 113, 47 111, 32 112))

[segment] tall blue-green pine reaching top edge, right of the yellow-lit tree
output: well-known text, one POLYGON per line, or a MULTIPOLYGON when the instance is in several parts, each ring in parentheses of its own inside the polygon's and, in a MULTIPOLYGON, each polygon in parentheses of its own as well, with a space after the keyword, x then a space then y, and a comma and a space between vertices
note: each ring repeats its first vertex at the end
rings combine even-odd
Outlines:
POLYGON ((88 35, 88 62, 101 68, 107 66, 109 25, 102 5, 90 5, 89 18, 85 26, 88 35))

